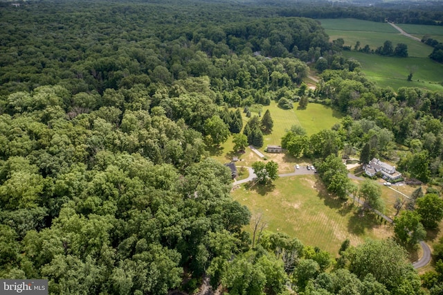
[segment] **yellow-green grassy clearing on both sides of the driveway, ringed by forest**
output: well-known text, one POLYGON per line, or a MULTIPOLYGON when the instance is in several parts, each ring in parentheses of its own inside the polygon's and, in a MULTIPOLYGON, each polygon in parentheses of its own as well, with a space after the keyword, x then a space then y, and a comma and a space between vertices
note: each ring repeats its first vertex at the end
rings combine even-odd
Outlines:
MULTIPOLYGON (((269 106, 253 107, 262 114, 269 109, 274 127, 271 134, 264 135, 264 146, 259 150, 264 152, 268 144, 280 145, 282 136, 292 125, 301 125, 311 135, 321 129, 329 129, 339 123, 342 115, 324 105, 309 103, 307 109, 284 110, 277 107, 275 102, 269 106)), ((256 113, 253 112, 253 115, 256 113)), ((244 114, 243 114, 244 116, 244 114)), ((244 118, 246 124, 248 118, 244 118)), ((311 163, 309 159, 296 159, 288 154, 265 153, 267 161, 279 164, 279 173, 294 171, 296 163, 304 165, 311 163)), ((232 136, 226 143, 210 149, 211 157, 221 163, 227 163, 232 157, 239 157, 239 166, 251 166, 254 161, 260 161, 251 149, 246 148, 244 154, 233 152, 232 136)), ((242 178, 247 172, 242 172, 242 178)), ((336 255, 343 240, 349 238, 352 244, 359 244, 365 238, 386 238, 392 235, 392 227, 384 224, 372 213, 359 215, 351 202, 343 202, 328 195, 317 175, 299 175, 281 177, 272 185, 252 188, 248 184, 233 190, 233 198, 248 206, 252 213, 262 213, 269 224, 266 230, 287 233, 300 239, 304 244, 318 246, 336 255)), ((395 201, 395 199, 394 199, 395 201)), ((251 229, 246 229, 251 231, 251 229)))

